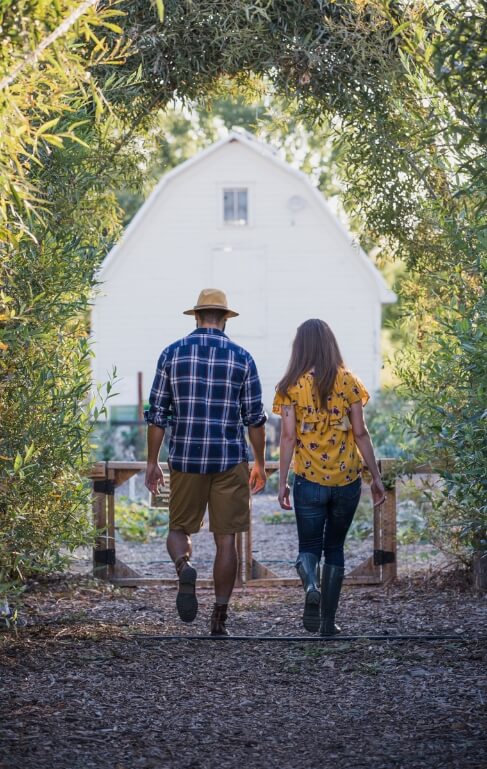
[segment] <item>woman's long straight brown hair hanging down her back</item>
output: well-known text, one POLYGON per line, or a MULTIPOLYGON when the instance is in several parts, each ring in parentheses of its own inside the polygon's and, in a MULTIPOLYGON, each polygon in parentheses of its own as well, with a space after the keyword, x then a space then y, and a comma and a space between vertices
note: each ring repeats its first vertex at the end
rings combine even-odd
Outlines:
POLYGON ((326 399, 333 390, 340 366, 343 366, 342 354, 329 325, 317 318, 305 320, 296 332, 291 359, 277 391, 286 395, 303 374, 313 370, 319 405, 326 408, 326 399))

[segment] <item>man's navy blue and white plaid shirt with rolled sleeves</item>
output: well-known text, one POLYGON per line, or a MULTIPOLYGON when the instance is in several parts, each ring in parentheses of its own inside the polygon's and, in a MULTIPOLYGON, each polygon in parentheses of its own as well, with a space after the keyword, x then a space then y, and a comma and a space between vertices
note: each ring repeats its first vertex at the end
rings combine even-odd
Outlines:
POLYGON ((171 427, 169 463, 217 473, 248 460, 244 425, 267 419, 252 356, 223 331, 198 328, 162 351, 145 412, 171 427))

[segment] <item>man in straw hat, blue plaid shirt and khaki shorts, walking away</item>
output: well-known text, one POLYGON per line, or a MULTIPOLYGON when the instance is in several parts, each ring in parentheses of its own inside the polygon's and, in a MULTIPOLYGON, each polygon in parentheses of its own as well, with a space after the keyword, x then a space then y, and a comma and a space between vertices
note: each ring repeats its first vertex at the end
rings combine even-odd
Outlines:
POLYGON ((167 549, 179 579, 176 606, 183 622, 196 617, 191 535, 200 530, 208 505, 216 544, 211 634, 229 635, 225 623, 237 575, 235 534, 249 527, 249 488, 257 493, 265 486, 267 417, 254 360, 224 333, 227 318, 238 313, 228 308, 223 291, 204 289, 184 314, 196 317, 196 330, 163 350, 145 413, 145 484, 153 494, 164 485, 158 458, 170 426, 167 549), (250 473, 244 425, 254 453, 250 473))

